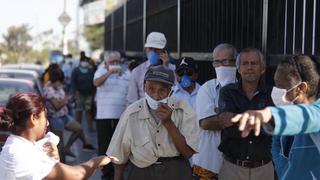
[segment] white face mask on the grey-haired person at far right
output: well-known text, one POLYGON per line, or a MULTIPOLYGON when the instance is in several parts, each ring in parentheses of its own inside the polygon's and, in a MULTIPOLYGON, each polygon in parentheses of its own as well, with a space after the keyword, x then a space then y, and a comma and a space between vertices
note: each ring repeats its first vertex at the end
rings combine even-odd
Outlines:
POLYGON ((294 102, 299 98, 299 95, 295 97, 292 101, 288 101, 286 99, 286 94, 293 90, 294 88, 298 87, 301 83, 298 85, 294 86, 293 88, 286 90, 286 89, 280 89, 277 87, 273 87, 272 92, 271 92, 271 98, 273 103, 276 106, 283 106, 283 105, 293 105, 294 102))

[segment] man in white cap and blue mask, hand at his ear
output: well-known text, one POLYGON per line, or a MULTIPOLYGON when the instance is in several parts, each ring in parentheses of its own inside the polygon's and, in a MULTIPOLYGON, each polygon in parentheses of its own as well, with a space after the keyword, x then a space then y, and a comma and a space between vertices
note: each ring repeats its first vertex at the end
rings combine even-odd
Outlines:
POLYGON ((148 60, 138 67, 136 67, 132 72, 129 80, 129 88, 127 95, 127 105, 144 97, 144 75, 150 66, 163 65, 174 70, 175 65, 170 64, 169 54, 165 50, 167 44, 166 37, 160 32, 151 32, 144 45, 145 52, 147 54, 148 60))

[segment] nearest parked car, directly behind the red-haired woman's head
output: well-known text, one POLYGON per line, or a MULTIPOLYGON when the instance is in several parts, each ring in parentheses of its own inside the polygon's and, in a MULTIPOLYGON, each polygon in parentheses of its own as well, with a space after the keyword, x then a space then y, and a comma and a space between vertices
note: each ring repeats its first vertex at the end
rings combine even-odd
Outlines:
MULTIPOLYGON (((5 107, 9 98, 19 92, 39 93, 33 81, 15 78, 0 78, 0 107, 5 107)), ((0 131, 0 151, 6 142, 9 132, 0 131)))

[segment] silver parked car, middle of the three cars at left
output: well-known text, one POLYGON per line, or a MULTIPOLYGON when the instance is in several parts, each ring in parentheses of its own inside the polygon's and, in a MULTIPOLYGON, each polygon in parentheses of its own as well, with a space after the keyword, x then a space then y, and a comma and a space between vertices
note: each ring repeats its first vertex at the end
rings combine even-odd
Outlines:
POLYGON ((33 81, 40 94, 42 94, 42 85, 39 80, 39 75, 33 70, 0 68, 0 78, 16 78, 33 81))

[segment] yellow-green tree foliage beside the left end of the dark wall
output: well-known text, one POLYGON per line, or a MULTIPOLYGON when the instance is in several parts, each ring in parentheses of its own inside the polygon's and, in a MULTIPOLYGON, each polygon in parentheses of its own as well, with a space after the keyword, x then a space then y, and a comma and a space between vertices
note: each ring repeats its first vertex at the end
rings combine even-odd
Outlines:
POLYGON ((83 36, 91 50, 101 49, 104 43, 104 24, 85 26, 83 36))

